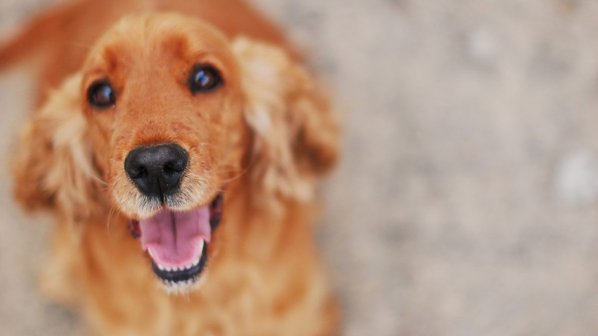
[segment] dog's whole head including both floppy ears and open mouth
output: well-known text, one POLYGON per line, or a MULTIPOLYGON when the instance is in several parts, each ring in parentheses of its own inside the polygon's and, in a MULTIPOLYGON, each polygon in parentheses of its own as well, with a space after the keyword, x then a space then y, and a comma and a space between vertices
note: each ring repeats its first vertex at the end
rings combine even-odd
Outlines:
POLYGON ((66 221, 114 208, 161 280, 192 283, 229 182, 245 174, 261 206, 309 199, 336 138, 312 78, 279 48, 176 14, 129 17, 28 125, 16 194, 66 221))

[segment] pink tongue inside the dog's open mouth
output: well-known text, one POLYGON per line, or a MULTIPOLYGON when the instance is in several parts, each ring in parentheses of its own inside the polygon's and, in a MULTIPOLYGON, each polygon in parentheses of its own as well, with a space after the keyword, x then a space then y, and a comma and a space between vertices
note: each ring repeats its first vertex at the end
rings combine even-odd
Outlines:
POLYGON ((192 264, 202 251, 202 242, 210 242, 208 206, 188 212, 164 209, 152 218, 139 221, 141 244, 151 249, 155 262, 166 267, 192 264))

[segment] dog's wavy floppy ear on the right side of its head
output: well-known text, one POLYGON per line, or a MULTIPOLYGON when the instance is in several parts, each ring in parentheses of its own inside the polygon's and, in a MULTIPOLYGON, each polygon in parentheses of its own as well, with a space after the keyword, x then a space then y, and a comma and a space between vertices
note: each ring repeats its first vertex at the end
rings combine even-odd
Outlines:
POLYGON ((273 45, 233 42, 251 129, 251 174, 261 193, 309 200, 338 157, 338 123, 314 77, 273 45))

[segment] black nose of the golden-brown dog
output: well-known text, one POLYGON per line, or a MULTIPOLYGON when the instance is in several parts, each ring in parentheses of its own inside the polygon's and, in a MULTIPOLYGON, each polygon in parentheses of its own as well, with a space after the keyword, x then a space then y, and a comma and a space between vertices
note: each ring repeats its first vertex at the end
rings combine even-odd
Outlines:
POLYGON ((187 161, 187 151, 173 143, 142 146, 127 155, 124 170, 142 193, 164 198, 178 190, 187 161))

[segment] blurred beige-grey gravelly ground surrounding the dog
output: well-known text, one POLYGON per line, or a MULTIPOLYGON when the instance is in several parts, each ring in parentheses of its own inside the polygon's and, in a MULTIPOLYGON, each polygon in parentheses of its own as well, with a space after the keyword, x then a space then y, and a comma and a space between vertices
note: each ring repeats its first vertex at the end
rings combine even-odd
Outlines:
MULTIPOLYGON (((47 2, 0 0, 0 36, 47 2)), ((598 334, 597 1, 254 3, 344 114, 318 240, 346 335, 598 334)), ((0 77, 2 176, 25 73, 0 77)), ((36 292, 50 225, 8 180, 0 334, 79 335, 36 292)))

